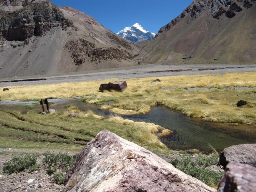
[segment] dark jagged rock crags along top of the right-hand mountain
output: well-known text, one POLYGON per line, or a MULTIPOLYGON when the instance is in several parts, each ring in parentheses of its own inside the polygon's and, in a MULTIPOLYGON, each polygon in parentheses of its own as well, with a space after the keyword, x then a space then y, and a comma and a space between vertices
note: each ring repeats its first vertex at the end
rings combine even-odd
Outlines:
MULTIPOLYGON (((236 12, 240 12, 243 8, 251 8, 252 2, 256 0, 196 0, 186 8, 177 18, 172 20, 167 25, 163 26, 158 33, 170 30, 175 26, 182 18, 189 15, 192 19, 199 17, 203 11, 207 11, 215 19, 219 19, 222 14, 228 18, 236 16, 236 12)), ((158 34, 156 34, 157 36, 158 34)))

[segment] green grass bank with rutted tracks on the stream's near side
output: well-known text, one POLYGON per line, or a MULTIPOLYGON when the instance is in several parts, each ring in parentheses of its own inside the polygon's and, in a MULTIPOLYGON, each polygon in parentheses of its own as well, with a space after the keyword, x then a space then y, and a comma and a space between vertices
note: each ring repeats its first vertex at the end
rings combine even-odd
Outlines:
POLYGON ((19 111, 0 109, 0 148, 79 151, 104 129, 149 150, 165 150, 158 139, 150 140, 152 133, 144 127, 120 125, 93 117, 67 118, 59 114, 41 115, 35 111, 22 115, 19 111), (144 133, 147 139, 143 139, 144 133))

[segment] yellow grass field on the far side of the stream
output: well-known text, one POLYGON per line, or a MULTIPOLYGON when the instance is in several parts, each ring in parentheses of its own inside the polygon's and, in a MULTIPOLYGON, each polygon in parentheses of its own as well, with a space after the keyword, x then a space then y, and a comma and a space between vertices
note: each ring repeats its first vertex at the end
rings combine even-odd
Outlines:
POLYGON ((221 90, 223 87, 256 87, 256 72, 227 73, 225 75, 180 75, 161 77, 161 82, 152 82, 156 77, 126 79, 128 88, 123 92, 99 92, 101 83, 118 81, 108 79, 52 85, 9 87, 1 92, 4 99, 41 99, 46 97, 82 96, 86 102, 102 105, 102 109, 122 115, 145 114, 151 107, 163 105, 181 111, 191 117, 209 121, 232 123, 256 123, 256 107, 236 107, 240 99, 256 102, 255 89, 221 90), (218 87, 218 90, 184 91, 183 88, 218 87), (164 90, 172 88, 174 90, 164 90), (85 97, 95 95, 95 97, 85 97), (238 96, 237 96, 238 95, 238 96), (108 106, 106 103, 114 103, 108 106))

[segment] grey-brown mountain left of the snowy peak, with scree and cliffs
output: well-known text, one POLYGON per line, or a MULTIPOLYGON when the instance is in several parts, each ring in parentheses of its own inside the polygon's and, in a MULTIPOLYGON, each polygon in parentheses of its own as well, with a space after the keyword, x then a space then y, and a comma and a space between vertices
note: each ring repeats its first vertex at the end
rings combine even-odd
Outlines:
POLYGON ((139 50, 73 8, 0 0, 0 78, 136 65, 139 50))

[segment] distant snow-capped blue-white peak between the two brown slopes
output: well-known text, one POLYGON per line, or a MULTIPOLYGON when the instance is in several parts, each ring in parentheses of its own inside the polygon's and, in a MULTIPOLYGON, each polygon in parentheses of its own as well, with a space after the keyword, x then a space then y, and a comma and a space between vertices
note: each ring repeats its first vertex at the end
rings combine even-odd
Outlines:
POLYGON ((153 40, 156 34, 147 31, 140 24, 135 23, 131 27, 124 28, 124 30, 118 32, 117 35, 136 43, 142 40, 153 40))

